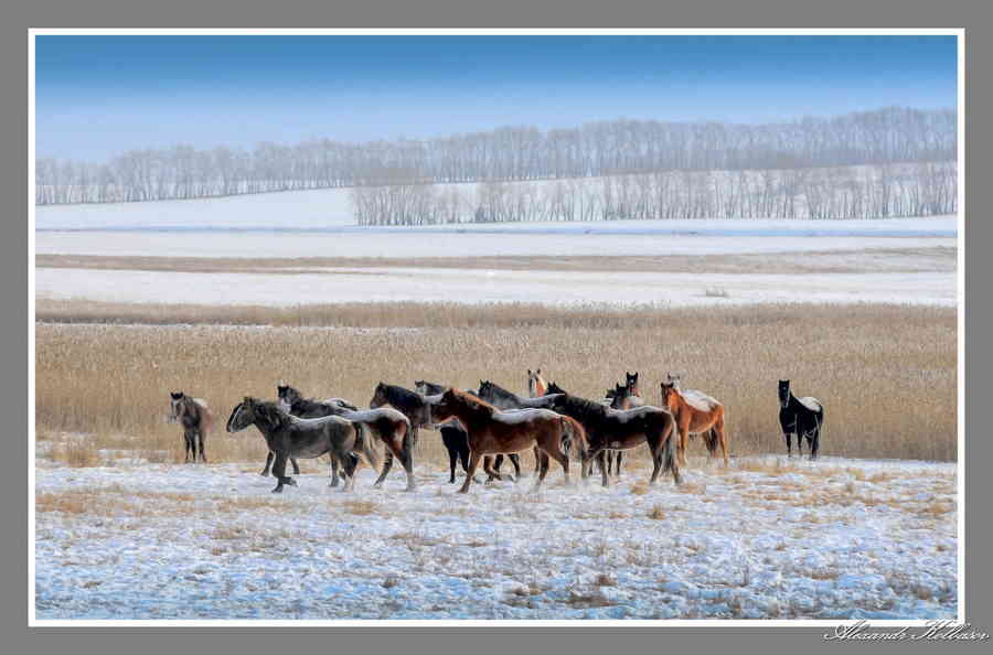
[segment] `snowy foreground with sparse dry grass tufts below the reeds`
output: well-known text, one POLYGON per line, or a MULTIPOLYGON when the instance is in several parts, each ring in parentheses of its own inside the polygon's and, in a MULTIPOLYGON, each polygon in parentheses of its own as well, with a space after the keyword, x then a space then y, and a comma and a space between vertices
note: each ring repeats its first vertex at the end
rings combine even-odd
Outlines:
POLYGON ((36 470, 39 619, 952 619, 954 464, 691 460, 685 483, 354 493, 260 462, 36 470))

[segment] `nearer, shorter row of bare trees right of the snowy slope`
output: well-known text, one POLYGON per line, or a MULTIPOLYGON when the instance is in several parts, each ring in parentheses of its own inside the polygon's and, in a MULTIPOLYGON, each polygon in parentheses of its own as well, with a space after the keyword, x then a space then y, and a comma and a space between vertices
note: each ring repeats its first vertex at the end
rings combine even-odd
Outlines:
POLYGON ((651 218, 866 218, 954 214, 953 162, 656 171, 541 182, 355 186, 360 225, 651 218))

